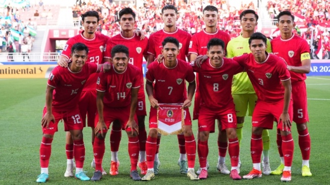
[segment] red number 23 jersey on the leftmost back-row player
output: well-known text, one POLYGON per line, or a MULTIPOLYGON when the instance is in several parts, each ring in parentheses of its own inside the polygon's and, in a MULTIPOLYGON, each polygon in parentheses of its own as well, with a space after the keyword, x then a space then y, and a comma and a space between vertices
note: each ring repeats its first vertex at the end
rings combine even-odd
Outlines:
MULTIPOLYGON (((88 59, 86 62, 102 64, 103 63, 103 52, 105 52, 106 43, 107 43, 109 37, 104 34, 96 33, 94 38, 87 39, 83 36, 83 32, 84 31, 82 31, 79 35, 69 38, 61 55, 65 56, 66 58, 69 59, 70 54, 71 54, 72 45, 77 42, 81 42, 81 43, 85 44, 89 50, 88 59)), ((86 81, 86 84, 85 84, 83 90, 84 91, 85 90, 95 90, 97 78, 98 78, 98 74, 91 75, 88 78, 88 80, 86 81)))

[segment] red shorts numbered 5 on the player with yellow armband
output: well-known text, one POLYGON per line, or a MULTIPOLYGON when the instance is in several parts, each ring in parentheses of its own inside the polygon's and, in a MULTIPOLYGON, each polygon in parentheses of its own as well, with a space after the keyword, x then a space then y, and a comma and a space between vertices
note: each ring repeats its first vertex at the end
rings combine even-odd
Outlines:
POLYGON ((309 121, 307 111, 307 90, 305 81, 292 83, 293 121, 297 124, 309 121))

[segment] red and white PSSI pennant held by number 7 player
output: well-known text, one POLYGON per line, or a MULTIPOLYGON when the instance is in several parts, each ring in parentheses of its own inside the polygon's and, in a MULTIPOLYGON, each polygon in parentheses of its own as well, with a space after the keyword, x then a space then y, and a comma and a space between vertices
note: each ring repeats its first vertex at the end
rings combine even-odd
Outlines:
POLYGON ((157 110, 158 132, 163 135, 182 133, 184 117, 182 104, 159 104, 157 110))

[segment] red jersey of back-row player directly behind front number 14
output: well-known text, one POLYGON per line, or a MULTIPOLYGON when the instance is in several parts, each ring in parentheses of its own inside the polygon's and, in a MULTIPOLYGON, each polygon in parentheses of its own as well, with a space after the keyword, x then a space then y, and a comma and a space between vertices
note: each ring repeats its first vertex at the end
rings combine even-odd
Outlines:
POLYGON ((111 50, 117 45, 125 45, 129 50, 129 64, 136 66, 142 72, 143 56, 147 56, 148 53, 148 38, 140 40, 140 37, 134 33, 131 38, 125 38, 121 33, 111 37, 107 42, 105 58, 111 58, 111 50))

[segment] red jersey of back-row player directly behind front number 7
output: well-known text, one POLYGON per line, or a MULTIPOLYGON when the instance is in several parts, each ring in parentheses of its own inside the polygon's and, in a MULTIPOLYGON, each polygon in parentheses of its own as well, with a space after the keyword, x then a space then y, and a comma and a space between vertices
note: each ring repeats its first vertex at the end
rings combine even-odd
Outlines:
POLYGON ((179 41, 180 53, 177 55, 177 59, 186 61, 185 56, 188 55, 188 46, 192 35, 178 28, 176 28, 176 31, 173 33, 166 32, 164 29, 162 29, 151 34, 149 37, 148 54, 154 55, 156 58, 158 55, 162 54, 162 42, 168 36, 174 37, 179 41))

